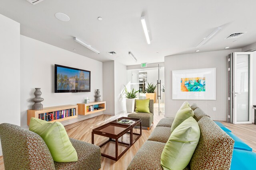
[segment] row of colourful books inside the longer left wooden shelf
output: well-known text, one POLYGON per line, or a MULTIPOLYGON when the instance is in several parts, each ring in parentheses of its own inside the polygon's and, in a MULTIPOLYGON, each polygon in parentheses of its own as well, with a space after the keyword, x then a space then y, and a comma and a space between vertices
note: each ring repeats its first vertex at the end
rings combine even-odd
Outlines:
POLYGON ((48 113, 40 113, 38 114, 38 119, 42 119, 45 121, 53 121, 56 119, 62 119, 74 115, 76 115, 76 108, 52 111, 48 113))

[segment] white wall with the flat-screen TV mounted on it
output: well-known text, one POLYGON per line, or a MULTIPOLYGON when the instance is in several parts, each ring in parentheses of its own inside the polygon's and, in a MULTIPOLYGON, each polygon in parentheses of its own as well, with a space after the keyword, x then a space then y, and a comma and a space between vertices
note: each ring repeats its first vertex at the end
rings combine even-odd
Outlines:
MULTIPOLYGON (((27 109, 31 109, 34 102, 34 88, 41 88, 42 104, 44 107, 77 104, 84 102, 88 97, 94 101, 96 89, 102 95, 102 63, 76 53, 43 43, 41 41, 20 35, 21 57, 21 113, 22 127, 27 126, 27 109), (54 93, 54 64, 80 68, 91 71, 91 92, 81 93, 54 93)), ((101 100, 102 100, 101 96, 101 100)), ((95 115, 102 114, 96 113, 95 115)), ((95 116, 94 115, 94 116, 95 116)), ((90 116, 78 115, 78 118, 63 121, 64 125, 90 116)))

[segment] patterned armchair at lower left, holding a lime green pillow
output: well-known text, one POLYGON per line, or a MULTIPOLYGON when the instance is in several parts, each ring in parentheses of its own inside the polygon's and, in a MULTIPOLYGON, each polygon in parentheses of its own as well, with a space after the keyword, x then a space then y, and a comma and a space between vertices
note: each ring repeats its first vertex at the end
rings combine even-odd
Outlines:
POLYGON ((71 139, 77 162, 54 162, 44 140, 36 133, 9 123, 0 124, 5 170, 98 170, 100 147, 71 139))

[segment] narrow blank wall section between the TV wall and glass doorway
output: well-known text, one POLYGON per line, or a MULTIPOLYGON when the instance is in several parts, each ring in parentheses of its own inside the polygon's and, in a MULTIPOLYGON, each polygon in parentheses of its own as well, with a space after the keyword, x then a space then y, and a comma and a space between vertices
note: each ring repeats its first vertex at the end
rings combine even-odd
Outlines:
POLYGON ((104 114, 115 114, 114 61, 104 62, 103 66, 103 100, 106 101, 104 114))

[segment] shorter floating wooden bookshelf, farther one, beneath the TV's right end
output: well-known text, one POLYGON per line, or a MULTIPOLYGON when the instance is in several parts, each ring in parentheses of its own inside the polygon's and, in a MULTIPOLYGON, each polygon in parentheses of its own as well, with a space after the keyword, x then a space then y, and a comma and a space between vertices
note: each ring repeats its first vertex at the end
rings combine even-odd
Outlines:
POLYGON ((106 102, 90 102, 90 103, 79 103, 78 114, 79 115, 88 115, 92 113, 97 113, 100 111, 106 110, 106 102))

